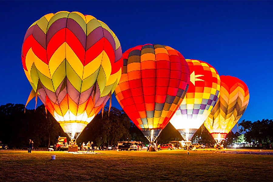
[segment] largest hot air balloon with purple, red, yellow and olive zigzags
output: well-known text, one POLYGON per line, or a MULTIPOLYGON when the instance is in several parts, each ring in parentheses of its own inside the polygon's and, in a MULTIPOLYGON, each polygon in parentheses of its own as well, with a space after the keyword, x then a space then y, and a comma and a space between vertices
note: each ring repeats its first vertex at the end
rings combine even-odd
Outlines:
POLYGON ((91 15, 44 15, 27 30, 22 64, 46 110, 70 138, 77 138, 111 97, 122 71, 113 31, 91 15))

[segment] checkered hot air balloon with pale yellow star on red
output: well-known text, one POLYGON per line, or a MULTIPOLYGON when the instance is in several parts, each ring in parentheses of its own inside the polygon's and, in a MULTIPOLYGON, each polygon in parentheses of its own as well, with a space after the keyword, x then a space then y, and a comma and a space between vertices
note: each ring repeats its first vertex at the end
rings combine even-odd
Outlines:
POLYGON ((214 67, 204 61, 186 61, 190 68, 189 89, 170 123, 184 140, 189 141, 217 102, 220 76, 214 67))

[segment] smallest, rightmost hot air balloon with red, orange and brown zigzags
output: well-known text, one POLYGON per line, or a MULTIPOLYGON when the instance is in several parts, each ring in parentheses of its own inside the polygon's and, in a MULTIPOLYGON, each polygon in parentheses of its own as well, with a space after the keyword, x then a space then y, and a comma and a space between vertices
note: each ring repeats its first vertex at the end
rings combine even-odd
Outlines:
POLYGON ((218 102, 211 111, 205 127, 218 142, 226 138, 248 106, 247 85, 233 76, 220 76, 221 88, 218 102))

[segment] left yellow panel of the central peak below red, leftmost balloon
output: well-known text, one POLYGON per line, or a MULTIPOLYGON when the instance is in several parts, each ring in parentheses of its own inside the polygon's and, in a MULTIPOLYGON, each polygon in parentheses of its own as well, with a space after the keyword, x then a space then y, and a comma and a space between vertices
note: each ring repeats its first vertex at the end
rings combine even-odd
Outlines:
POLYGON ((51 56, 48 63, 51 77, 53 76, 54 72, 59 67, 59 65, 62 63, 62 61, 66 58, 65 52, 66 42, 64 42, 51 56))

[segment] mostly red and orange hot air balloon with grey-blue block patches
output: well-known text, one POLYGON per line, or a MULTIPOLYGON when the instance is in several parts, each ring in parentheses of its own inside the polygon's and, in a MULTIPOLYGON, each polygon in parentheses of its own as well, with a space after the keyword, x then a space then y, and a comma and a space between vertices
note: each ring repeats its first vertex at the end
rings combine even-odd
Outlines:
POLYGON ((184 57, 169 46, 138 45, 123 53, 115 95, 150 142, 156 140, 182 102, 189 76, 184 57))

